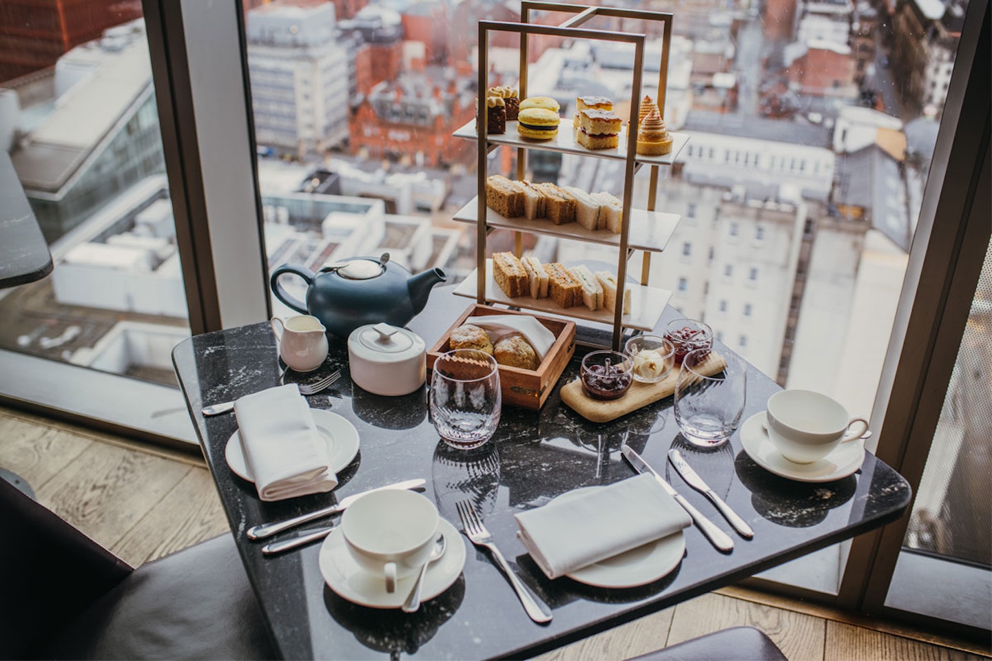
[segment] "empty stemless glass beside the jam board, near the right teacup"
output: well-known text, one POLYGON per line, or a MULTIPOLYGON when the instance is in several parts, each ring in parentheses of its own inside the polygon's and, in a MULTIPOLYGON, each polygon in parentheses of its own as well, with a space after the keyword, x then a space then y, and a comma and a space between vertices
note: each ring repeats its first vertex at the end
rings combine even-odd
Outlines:
POLYGON ((689 443, 716 447, 727 442, 744 412, 747 364, 729 353, 696 349, 685 354, 676 384, 676 422, 689 443), (722 361, 721 372, 711 372, 713 361, 722 361))

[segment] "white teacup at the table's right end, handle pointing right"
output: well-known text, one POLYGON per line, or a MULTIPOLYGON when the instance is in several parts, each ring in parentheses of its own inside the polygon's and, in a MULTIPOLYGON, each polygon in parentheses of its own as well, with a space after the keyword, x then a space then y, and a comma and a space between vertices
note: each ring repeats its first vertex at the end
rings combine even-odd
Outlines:
POLYGON ((850 443, 868 430, 864 418, 851 418, 840 402, 811 390, 782 390, 768 398, 768 437, 782 456, 810 464, 841 443, 850 443), (857 431, 851 425, 861 423, 857 431))

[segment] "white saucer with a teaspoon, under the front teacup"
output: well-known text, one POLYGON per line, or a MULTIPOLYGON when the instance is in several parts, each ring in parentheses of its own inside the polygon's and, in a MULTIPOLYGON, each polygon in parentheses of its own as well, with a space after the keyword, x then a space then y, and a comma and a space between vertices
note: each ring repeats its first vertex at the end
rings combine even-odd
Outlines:
MULTIPOLYGON (((451 587, 465 566, 465 541, 453 525, 441 518, 437 531, 444 535, 444 555, 428 567, 421 586, 421 601, 427 602, 451 587)), ((327 587, 341 599, 371 608, 399 608, 407 601, 417 573, 396 582, 396 592, 386 592, 386 579, 367 572, 355 562, 344 543, 344 534, 334 528, 320 545, 320 574, 327 587)))

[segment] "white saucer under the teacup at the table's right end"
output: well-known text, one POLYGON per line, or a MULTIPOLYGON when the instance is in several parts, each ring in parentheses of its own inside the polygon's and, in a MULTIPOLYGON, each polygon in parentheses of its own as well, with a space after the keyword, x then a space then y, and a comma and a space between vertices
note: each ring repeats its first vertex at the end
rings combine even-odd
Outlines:
POLYGON ((782 456, 765 431, 765 411, 755 413, 741 425, 741 445, 754 462, 775 475, 798 482, 833 482, 852 475, 865 460, 863 441, 842 443, 820 460, 797 464, 782 456))

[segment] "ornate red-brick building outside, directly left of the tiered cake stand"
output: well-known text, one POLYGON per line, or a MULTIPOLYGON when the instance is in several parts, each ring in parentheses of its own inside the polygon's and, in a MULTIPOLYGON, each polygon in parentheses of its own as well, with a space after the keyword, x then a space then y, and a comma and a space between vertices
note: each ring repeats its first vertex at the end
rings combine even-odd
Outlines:
POLYGON ((463 162, 469 141, 451 134, 475 114, 475 93, 448 69, 404 72, 377 84, 350 120, 352 154, 435 167, 463 162))

